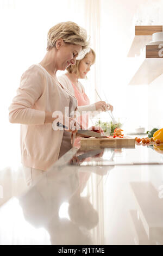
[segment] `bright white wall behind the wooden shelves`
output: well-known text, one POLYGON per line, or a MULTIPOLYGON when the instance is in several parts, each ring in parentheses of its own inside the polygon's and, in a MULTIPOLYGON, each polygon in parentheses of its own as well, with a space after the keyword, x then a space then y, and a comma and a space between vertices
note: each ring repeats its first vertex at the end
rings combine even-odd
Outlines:
MULTIPOLYGON (((151 88, 154 86, 128 86, 131 75, 136 71, 137 59, 127 58, 127 53, 136 22, 142 20, 142 25, 149 25, 152 20, 152 25, 163 25, 160 12, 163 1, 102 0, 102 7, 102 86, 114 105, 115 116, 128 117, 129 130, 134 131, 138 126, 145 126, 148 130, 158 124, 162 113, 160 101, 153 97, 151 88), (151 109, 154 115, 150 114, 151 109)), ((161 81, 162 77, 154 82, 160 92, 161 81)))

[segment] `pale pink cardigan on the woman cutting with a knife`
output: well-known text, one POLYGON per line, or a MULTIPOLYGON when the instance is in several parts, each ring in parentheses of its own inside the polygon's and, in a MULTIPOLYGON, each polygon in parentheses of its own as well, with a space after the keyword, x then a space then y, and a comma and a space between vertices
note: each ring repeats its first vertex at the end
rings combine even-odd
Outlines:
POLYGON ((44 124, 45 111, 61 111, 70 98, 41 65, 24 72, 9 107, 9 121, 21 124, 21 161, 24 166, 47 170, 58 160, 64 131, 44 124))

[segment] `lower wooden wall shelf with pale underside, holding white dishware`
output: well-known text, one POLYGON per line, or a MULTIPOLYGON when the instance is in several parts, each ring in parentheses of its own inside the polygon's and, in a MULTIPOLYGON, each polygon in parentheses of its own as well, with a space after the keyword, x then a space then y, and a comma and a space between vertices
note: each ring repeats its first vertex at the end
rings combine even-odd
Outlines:
POLYGON ((159 45, 146 45, 139 57, 139 68, 131 78, 130 85, 149 84, 163 73, 163 56, 159 56, 160 50, 160 53, 163 53, 159 45))

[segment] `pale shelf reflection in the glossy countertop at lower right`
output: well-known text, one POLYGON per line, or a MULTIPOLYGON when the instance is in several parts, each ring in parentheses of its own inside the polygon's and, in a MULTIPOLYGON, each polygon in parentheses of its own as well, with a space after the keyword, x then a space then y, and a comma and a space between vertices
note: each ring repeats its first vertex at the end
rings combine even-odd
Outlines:
POLYGON ((130 186, 148 239, 163 240, 163 202, 158 191, 150 182, 131 182, 130 186))

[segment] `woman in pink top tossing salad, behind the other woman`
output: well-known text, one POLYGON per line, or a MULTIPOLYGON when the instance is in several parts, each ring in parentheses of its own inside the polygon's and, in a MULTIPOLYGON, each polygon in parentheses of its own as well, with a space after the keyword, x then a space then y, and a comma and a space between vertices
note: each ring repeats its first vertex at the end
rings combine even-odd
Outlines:
MULTIPOLYGON (((82 56, 82 54, 80 54, 82 56)), ((78 57, 79 58, 79 57, 78 57)), ((110 109, 112 111, 113 107, 106 104, 105 101, 98 101, 90 105, 89 97, 87 97, 82 83, 79 79, 86 78, 87 72, 90 71, 92 64, 95 63, 96 54, 91 48, 85 53, 82 59, 78 59, 75 65, 70 65, 67 67, 67 73, 59 76, 58 81, 62 86, 66 87, 78 101, 78 112, 82 115, 82 112, 93 112, 93 111, 106 111, 110 109)), ((88 127, 88 116, 85 118, 80 117, 80 122, 82 125, 88 127)))

